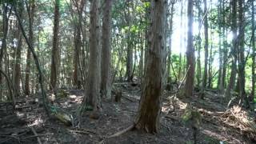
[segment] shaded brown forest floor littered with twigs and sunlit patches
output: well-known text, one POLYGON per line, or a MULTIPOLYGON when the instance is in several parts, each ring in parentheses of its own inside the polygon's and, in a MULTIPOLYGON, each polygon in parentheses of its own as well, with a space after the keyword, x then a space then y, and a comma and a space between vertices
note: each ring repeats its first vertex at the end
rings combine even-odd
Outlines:
MULTIPOLYGON (((122 91, 121 102, 102 101, 103 112, 97 120, 82 117, 79 128, 65 126, 48 118, 42 104, 30 96, 18 100, 16 109, 0 104, 0 143, 174 143, 193 142, 192 130, 182 121, 187 104, 196 107, 202 114, 198 143, 254 143, 256 133, 251 129, 255 124, 255 113, 238 106, 226 108, 226 102, 214 92, 207 91, 202 100, 176 98, 165 91, 162 101, 161 128, 158 134, 130 130, 115 138, 107 138, 131 126, 138 110, 139 86, 128 83, 118 84, 114 89, 122 91), (248 122, 248 116, 254 119, 248 122), (252 123, 253 122, 253 123, 252 123)), ((56 105, 70 114, 75 114, 82 101, 83 90, 65 90, 66 96, 57 97, 56 105)))

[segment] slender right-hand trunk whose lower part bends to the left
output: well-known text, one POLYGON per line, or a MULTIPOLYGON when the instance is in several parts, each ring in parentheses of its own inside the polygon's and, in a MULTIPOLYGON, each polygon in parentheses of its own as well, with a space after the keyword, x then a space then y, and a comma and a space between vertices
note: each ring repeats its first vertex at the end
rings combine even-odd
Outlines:
POLYGON ((229 100, 230 99, 230 91, 234 90, 234 84, 235 84, 235 78, 237 75, 237 50, 238 50, 238 42, 237 42, 237 0, 233 0, 232 1, 232 25, 231 25, 231 29, 232 29, 232 33, 233 33, 233 40, 232 40, 232 50, 231 50, 231 54, 233 56, 233 60, 232 60, 232 66, 231 66, 231 74, 230 74, 230 82, 228 83, 228 86, 226 88, 226 99, 229 100))

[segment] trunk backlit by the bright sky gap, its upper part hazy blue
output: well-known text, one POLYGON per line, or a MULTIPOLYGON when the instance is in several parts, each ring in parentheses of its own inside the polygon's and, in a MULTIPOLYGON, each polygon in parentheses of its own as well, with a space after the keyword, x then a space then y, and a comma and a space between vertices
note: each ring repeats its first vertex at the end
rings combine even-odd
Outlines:
POLYGON ((185 96, 193 96, 194 91, 194 45, 193 45, 193 1, 188 1, 188 32, 186 48, 186 67, 188 74, 185 84, 185 96))

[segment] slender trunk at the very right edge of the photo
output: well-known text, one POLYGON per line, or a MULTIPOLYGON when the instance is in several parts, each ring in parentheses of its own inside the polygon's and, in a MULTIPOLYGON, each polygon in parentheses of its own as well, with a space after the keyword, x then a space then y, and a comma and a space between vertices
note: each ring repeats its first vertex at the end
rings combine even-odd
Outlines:
POLYGON ((252 54, 252 59, 253 59, 253 63, 251 66, 251 75, 252 75, 252 83, 251 83, 251 94, 250 94, 250 102, 254 102, 254 96, 255 96, 255 23, 254 23, 254 19, 255 19, 255 11, 254 11, 254 1, 252 1, 252 6, 251 6, 251 11, 252 11, 252 17, 251 17, 251 25, 252 25, 252 46, 253 46, 253 54, 252 54))

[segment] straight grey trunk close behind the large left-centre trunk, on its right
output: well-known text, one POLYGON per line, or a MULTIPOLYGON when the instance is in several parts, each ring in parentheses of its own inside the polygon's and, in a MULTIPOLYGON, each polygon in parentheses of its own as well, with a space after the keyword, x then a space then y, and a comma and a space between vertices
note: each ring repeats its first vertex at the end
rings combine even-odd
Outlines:
POLYGON ((111 7, 112 0, 105 0, 102 22, 102 96, 110 98, 111 94, 111 7))

